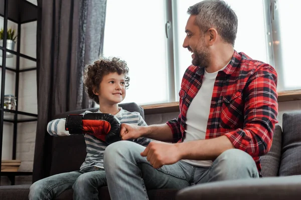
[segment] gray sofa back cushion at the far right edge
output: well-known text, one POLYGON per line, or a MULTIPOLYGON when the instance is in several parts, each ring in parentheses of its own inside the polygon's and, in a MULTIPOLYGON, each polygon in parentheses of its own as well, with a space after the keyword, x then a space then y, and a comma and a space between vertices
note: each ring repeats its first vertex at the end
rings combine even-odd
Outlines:
POLYGON ((301 174, 301 111, 284 113, 282 121, 279 175, 301 174))

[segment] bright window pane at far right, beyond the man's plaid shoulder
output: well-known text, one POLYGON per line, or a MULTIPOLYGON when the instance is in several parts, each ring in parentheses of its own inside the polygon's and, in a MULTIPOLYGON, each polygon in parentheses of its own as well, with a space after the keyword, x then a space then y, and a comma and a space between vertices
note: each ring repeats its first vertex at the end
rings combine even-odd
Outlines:
POLYGON ((278 90, 301 89, 301 64, 298 61, 301 31, 299 0, 270 0, 271 26, 278 90))

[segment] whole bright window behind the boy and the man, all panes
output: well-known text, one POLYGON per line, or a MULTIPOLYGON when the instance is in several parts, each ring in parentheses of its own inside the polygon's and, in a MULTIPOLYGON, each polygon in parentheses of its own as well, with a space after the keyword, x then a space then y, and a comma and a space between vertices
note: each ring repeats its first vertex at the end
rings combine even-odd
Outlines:
MULTIPOLYGON (((120 56, 128 63, 131 80, 124 102, 179 100, 180 83, 191 64, 191 53, 182 47, 187 9, 199 1, 107 1, 104 55, 120 56), (168 38, 167 21, 171 21, 172 30, 168 38)), ((301 66, 295 61, 296 46, 301 46, 301 41, 294 39, 301 30, 296 25, 301 18, 301 1, 225 1, 238 17, 235 50, 274 66, 278 91, 301 89, 301 81, 295 81, 301 73, 301 66)))

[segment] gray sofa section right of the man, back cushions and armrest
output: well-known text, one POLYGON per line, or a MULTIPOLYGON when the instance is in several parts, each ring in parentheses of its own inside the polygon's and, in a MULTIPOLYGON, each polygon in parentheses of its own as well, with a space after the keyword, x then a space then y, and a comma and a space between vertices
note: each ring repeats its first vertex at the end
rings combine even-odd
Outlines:
POLYGON ((261 156, 263 178, 195 185, 176 199, 301 199, 301 111, 284 113, 282 120, 283 131, 276 126, 271 149, 261 156))

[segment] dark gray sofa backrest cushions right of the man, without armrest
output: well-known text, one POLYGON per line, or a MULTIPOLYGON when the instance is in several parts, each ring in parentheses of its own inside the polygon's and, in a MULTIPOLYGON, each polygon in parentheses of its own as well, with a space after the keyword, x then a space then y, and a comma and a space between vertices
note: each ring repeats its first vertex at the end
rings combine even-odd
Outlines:
POLYGON ((282 131, 276 125, 270 151, 260 157, 262 176, 301 174, 301 111, 282 115, 282 131))

